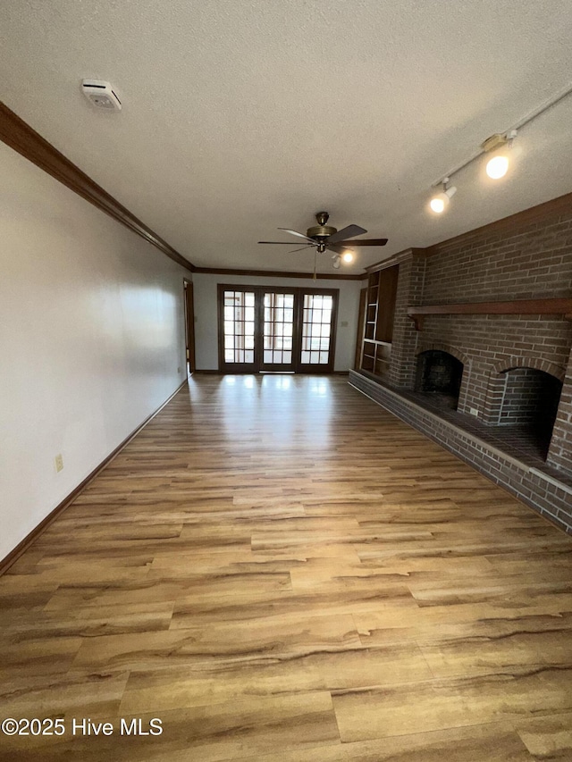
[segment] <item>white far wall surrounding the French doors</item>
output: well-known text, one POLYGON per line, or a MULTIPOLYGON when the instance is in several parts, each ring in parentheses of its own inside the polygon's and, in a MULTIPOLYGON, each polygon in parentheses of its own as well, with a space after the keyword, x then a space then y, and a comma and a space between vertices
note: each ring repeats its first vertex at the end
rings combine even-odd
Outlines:
POLYGON ((244 286, 297 286, 304 289, 340 289, 338 325, 336 328, 335 371, 347 371, 354 366, 357 336, 357 313, 361 281, 313 281, 305 278, 253 277, 250 275, 207 275, 194 273, 195 341, 197 369, 212 371, 218 368, 218 328, 216 286, 229 283, 244 286), (343 323, 347 323, 344 325, 343 323))

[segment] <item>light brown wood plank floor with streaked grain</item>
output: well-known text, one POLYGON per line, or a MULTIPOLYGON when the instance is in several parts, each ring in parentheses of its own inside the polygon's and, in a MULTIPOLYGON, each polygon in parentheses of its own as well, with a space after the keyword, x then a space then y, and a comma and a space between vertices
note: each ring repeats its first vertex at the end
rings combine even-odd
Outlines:
POLYGON ((3 760, 572 760, 572 538, 343 377, 191 380, 0 607, 3 760))

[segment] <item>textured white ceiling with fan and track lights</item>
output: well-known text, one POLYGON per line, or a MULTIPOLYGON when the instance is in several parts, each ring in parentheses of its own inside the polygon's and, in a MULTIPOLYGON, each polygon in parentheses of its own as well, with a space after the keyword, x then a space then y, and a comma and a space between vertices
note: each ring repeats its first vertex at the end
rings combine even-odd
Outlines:
POLYGON ((572 190, 569 96, 505 180, 473 163, 426 211, 433 181, 568 84, 570 39, 570 0, 4 0, 0 98, 193 264, 310 272, 257 240, 324 209, 390 239, 362 272, 572 190))

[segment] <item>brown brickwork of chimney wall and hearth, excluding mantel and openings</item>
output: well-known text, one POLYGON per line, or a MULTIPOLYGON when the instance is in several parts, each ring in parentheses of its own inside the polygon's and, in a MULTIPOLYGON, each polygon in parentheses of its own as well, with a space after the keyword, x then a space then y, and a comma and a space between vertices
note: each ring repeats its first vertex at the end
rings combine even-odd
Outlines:
POLYGON ((572 320, 560 314, 435 314, 416 331, 407 314, 408 306, 572 298, 572 194, 434 247, 408 249, 390 264, 400 266, 390 371, 381 384, 350 372, 350 383, 572 533, 572 320), (543 472, 487 448, 399 394, 414 389, 417 357, 430 349, 464 364, 458 412, 476 412, 485 425, 533 417, 526 383, 538 399, 539 374, 525 369, 553 376, 547 393, 558 395, 563 382, 543 472))

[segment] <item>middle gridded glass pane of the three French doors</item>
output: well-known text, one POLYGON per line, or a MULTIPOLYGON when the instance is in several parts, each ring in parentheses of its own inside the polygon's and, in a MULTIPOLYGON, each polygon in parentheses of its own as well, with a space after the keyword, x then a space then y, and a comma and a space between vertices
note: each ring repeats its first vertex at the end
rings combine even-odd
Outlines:
POLYGON ((294 370, 294 294, 265 291, 263 371, 294 370))

